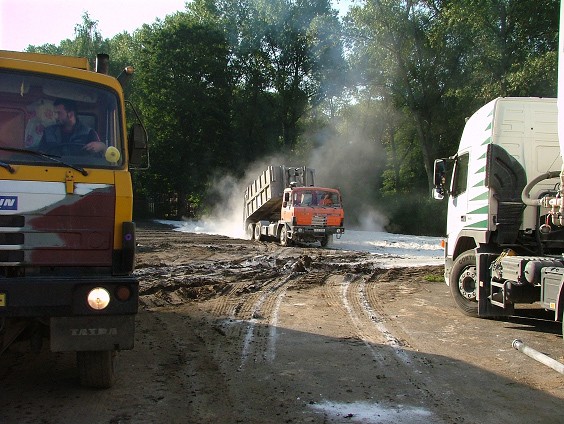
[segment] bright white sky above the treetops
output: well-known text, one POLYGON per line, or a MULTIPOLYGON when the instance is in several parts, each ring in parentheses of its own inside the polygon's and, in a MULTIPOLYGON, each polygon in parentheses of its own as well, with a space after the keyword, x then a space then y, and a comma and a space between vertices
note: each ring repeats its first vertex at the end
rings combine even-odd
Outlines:
MULTIPOLYGON (((354 1, 354 0, 353 0, 354 1)), ((332 0, 343 14, 351 0, 332 0)), ((104 38, 185 9, 186 0, 0 0, 0 50, 23 51, 27 46, 59 45, 74 38, 74 27, 88 12, 104 38)))

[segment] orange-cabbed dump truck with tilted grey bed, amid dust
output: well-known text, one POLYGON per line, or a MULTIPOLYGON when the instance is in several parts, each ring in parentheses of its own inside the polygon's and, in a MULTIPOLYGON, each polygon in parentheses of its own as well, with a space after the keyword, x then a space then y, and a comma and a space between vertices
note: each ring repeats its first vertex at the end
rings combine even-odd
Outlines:
POLYGON ((268 166, 245 190, 244 225, 251 240, 319 241, 327 246, 344 232, 341 193, 314 184, 315 170, 268 166))

